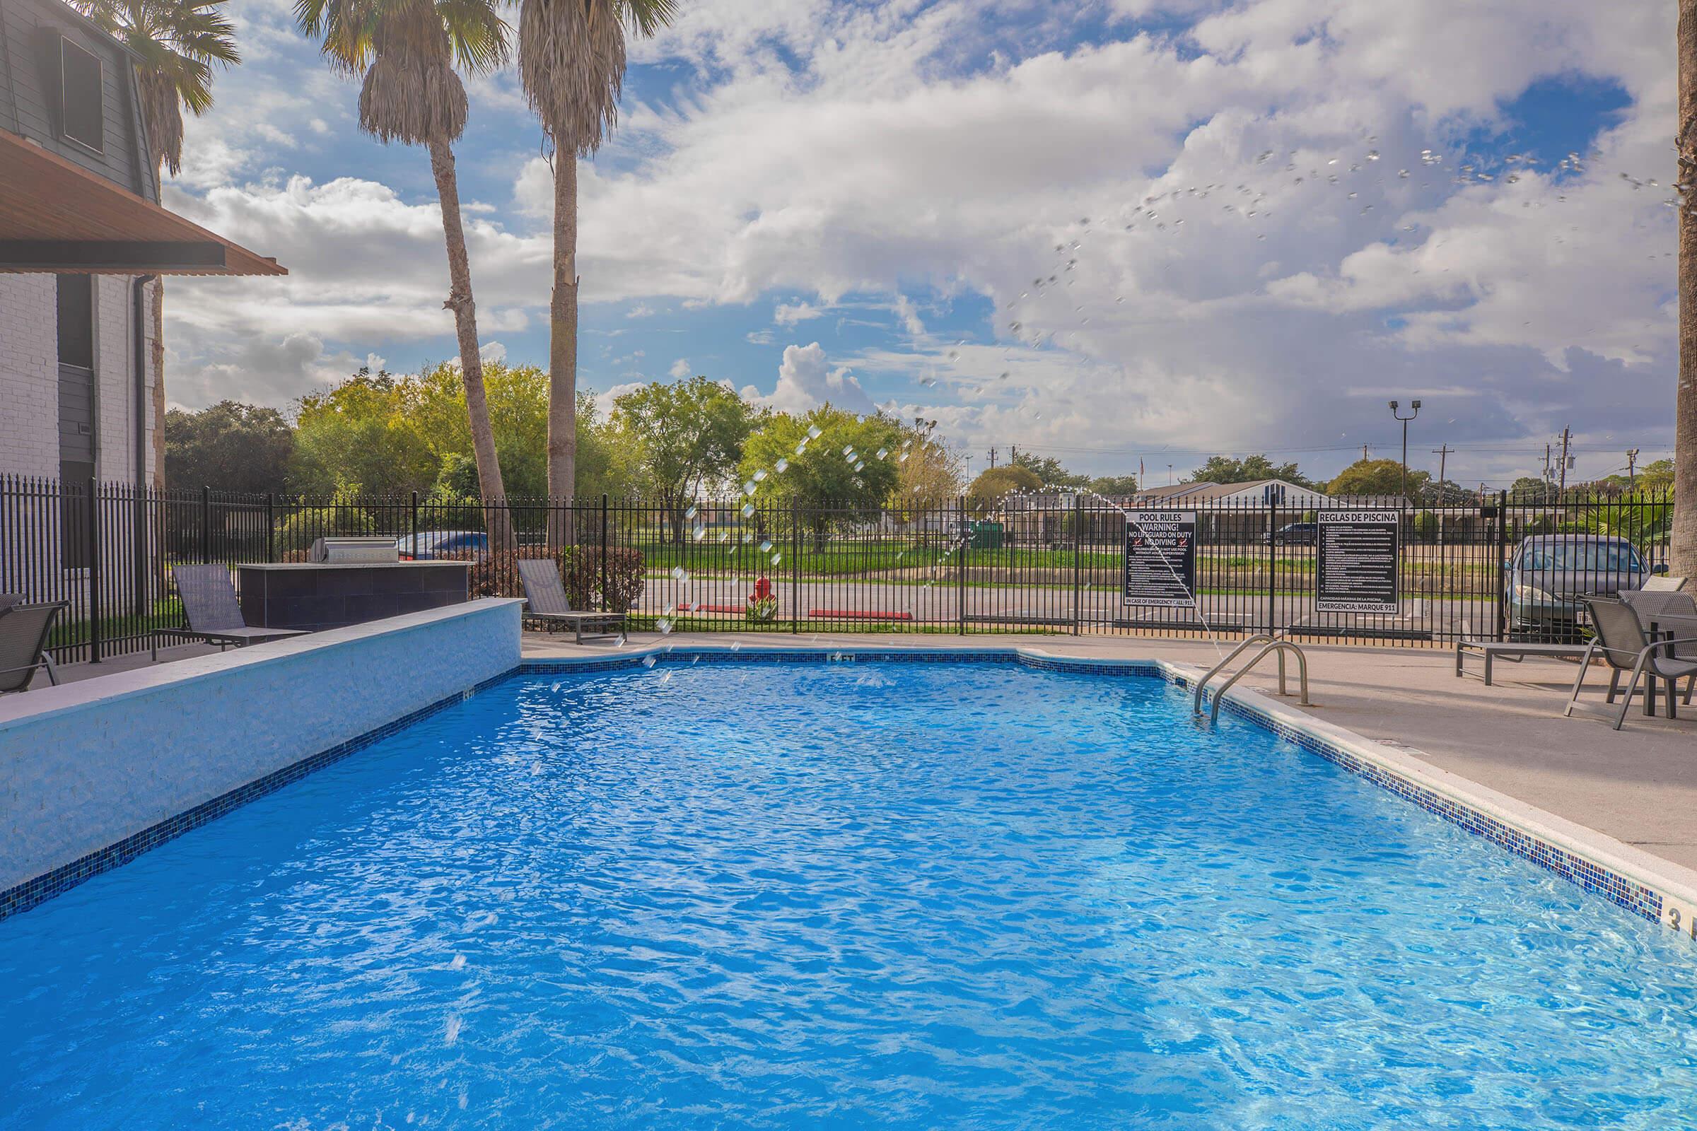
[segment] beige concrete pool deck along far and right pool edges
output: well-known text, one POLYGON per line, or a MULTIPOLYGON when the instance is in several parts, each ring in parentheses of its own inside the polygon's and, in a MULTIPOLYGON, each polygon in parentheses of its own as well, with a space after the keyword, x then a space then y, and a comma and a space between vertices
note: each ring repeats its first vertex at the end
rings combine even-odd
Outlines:
MULTIPOLYGON (((657 644, 743 648, 789 644, 862 648, 1035 648, 1056 656, 1166 660, 1213 666, 1205 641, 1135 636, 903 636, 899 632, 748 634, 635 632, 631 648, 657 644)), ((1227 641, 1229 649, 1230 641, 1227 641)), ((621 651, 611 641, 572 644, 524 634, 524 658, 572 658, 621 651)), ((1290 710, 1347 727, 1439 770, 1507 794, 1651 856, 1697 868, 1697 704, 1682 717, 1646 719, 1634 702, 1626 729, 1595 717, 1566 719, 1561 709, 1575 665, 1551 660, 1498 663, 1495 685, 1456 678, 1454 653, 1412 648, 1303 644, 1313 707, 1276 700, 1290 710)), ((1476 665, 1475 665, 1476 670, 1476 665)), ((1604 668, 1592 668, 1582 702, 1602 702, 1604 668)), ((1273 695, 1271 660, 1237 687, 1273 695)), ((1297 688, 1291 665, 1290 688, 1297 688)))

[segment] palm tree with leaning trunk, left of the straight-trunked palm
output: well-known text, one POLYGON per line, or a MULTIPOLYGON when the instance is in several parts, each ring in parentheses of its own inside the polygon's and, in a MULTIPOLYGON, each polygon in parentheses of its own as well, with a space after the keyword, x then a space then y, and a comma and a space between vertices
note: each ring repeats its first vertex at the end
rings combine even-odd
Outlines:
POLYGON ((450 288, 443 305, 453 310, 460 339, 460 380, 477 485, 490 538, 511 543, 511 524, 497 521, 496 504, 507 492, 484 393, 477 305, 451 144, 465 132, 467 115, 465 83, 455 63, 468 71, 499 68, 507 58, 507 25, 496 14, 496 0, 295 0, 295 19, 307 36, 322 37, 324 54, 334 68, 348 75, 365 71, 360 129, 382 142, 400 141, 429 153, 448 242, 450 288))

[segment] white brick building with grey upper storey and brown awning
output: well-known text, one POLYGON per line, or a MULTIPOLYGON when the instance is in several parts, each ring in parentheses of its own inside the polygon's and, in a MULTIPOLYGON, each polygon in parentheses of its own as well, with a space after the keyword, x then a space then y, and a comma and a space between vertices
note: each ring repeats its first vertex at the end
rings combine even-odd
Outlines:
MULTIPOLYGON (((0 476, 12 495, 17 476, 81 493, 90 480, 146 488, 160 393, 151 288, 163 275, 285 275, 160 207, 134 61, 59 0, 0 0, 0 476)), ((58 585, 42 571, 87 566, 97 524, 76 507, 42 519, 46 504, 0 502, 0 541, 36 524, 34 541, 56 543, 32 553, 27 587, 0 588, 46 597, 58 585), (42 524, 56 538, 42 539, 42 524)), ((109 561, 136 544, 119 529, 98 538, 109 561)))

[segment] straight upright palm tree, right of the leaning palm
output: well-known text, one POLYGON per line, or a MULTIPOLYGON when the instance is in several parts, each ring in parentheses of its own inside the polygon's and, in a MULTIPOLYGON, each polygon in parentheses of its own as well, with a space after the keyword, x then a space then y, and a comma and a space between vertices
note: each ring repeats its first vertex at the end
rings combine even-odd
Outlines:
POLYGON ((653 36, 672 0, 521 0, 519 81, 553 142, 553 298, 548 307, 548 493, 577 475, 577 158, 613 131, 624 29, 653 36))

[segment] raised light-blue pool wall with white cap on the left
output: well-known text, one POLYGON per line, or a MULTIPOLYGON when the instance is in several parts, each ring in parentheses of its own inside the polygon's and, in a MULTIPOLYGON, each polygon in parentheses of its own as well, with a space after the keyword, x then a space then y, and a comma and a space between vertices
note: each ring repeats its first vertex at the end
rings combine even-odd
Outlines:
POLYGON ((490 599, 0 699, 0 892, 519 663, 490 599))

